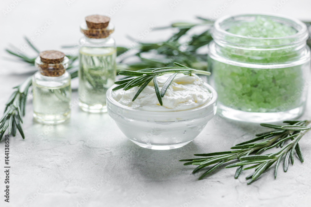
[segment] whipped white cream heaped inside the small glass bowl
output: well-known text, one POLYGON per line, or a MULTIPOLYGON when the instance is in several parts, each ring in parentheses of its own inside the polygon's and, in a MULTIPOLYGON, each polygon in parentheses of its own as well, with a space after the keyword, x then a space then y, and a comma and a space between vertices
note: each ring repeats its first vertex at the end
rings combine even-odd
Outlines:
MULTIPOLYGON (((157 77, 159 89, 171 74, 164 74, 157 77)), ((127 91, 119 89, 113 91, 111 96, 124 106, 145 111, 183 111, 194 109, 211 100, 211 93, 204 86, 202 80, 195 74, 177 74, 169 88, 162 97, 161 106, 156 96, 153 80, 144 88, 139 96, 132 101, 138 91, 138 87, 127 91)))

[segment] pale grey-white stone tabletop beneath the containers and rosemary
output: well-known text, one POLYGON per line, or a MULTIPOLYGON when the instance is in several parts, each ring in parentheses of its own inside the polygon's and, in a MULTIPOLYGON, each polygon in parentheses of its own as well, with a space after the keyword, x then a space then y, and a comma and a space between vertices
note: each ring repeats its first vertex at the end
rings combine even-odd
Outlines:
MULTIPOLYGON (((41 50, 60 49, 77 43, 84 16, 111 12, 116 25, 114 37, 130 47, 129 34, 139 39, 148 26, 163 26, 194 16, 224 16, 241 12, 271 12, 310 20, 310 1, 12 1, 1 2, 0 106, 1 113, 12 87, 34 71, 33 66, 12 59, 4 48, 13 43, 31 53, 23 36, 34 37, 41 50), (8 9, 12 3, 14 8, 8 9), (282 2, 282 3, 280 3, 282 2), (284 3, 285 2, 285 3, 284 3), (121 5, 121 6, 120 6, 121 5), (117 8, 118 6, 118 8, 117 8), (224 7, 223 7, 224 6, 224 7), (117 8, 117 9, 115 9, 117 8), (276 9, 277 8, 277 9, 276 9), (111 9, 116 11, 113 13, 111 9), (44 31, 43 31, 44 30, 44 31), (57 47, 56 47, 57 46, 57 47)), ((163 39, 170 31, 150 32, 144 40, 163 39), (163 34, 163 36, 159 35, 163 34)), ((77 80, 73 81, 73 103, 77 80)), ((309 94, 309 97, 311 94, 309 94)), ((308 106, 310 106, 310 99, 308 106)), ((308 109, 303 118, 311 117, 308 109)), ((24 117, 26 139, 10 138, 10 203, 4 202, 4 142, 0 142, 0 206, 310 206, 311 134, 301 140, 305 162, 297 157, 287 173, 273 170, 247 186, 243 173, 234 179, 234 169, 215 171, 198 181, 193 166, 179 159, 195 153, 225 151, 250 139, 257 124, 241 124, 214 117, 203 132, 188 145, 156 151, 129 141, 107 114, 89 114, 73 105, 70 121, 42 125, 32 119, 29 96, 24 117)))

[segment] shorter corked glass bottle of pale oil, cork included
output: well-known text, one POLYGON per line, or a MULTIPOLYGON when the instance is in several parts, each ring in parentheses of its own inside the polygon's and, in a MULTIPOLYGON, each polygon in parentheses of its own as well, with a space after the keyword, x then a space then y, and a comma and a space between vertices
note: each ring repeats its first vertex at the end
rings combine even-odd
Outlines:
POLYGON ((40 52, 35 60, 39 69, 32 78, 34 118, 44 124, 58 124, 70 117, 71 76, 69 60, 63 52, 40 52))

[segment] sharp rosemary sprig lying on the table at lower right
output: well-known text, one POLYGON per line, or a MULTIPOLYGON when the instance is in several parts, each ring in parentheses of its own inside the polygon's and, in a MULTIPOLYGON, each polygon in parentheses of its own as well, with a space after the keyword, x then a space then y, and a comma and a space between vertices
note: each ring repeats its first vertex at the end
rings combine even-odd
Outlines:
POLYGON ((254 172, 246 177, 249 179, 247 184, 250 184, 257 180, 262 173, 269 169, 272 164, 276 163, 274 177, 276 178, 277 169, 281 160, 284 164, 284 172, 288 169, 288 163, 291 161, 294 164, 294 153, 298 155, 301 162, 304 162, 304 158, 298 144, 299 140, 311 129, 311 120, 304 121, 284 121, 286 125, 272 125, 272 124, 260 124, 263 127, 276 129, 266 133, 256 134, 256 137, 252 140, 239 143, 231 149, 233 151, 214 152, 207 154, 195 154, 195 156, 203 156, 204 158, 194 158, 179 160, 185 161, 184 165, 198 165, 192 173, 197 173, 199 170, 215 164, 213 167, 203 173, 198 179, 202 179, 219 167, 221 164, 235 161, 234 164, 225 166, 225 168, 237 167, 234 178, 238 178, 243 170, 254 169, 254 172), (287 143, 285 146, 284 144, 287 143), (260 142, 257 142, 260 141, 260 142), (261 152, 272 149, 274 147, 281 147, 280 150, 260 155, 261 152), (284 146, 284 147, 283 147, 284 146), (284 158, 284 159, 282 159, 284 158), (248 165, 248 167, 246 167, 248 165))

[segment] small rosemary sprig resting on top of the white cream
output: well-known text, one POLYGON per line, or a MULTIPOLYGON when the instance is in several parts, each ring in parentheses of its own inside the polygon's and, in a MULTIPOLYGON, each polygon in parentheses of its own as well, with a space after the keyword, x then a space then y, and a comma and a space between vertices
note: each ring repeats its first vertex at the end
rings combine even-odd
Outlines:
POLYGON ((112 90, 118 90, 123 88, 123 90, 128 90, 133 87, 140 87, 133 97, 132 101, 135 101, 135 99, 138 97, 138 95, 146 88, 148 83, 153 79, 156 96, 158 98, 158 101, 160 105, 162 106, 162 97, 165 95, 165 92, 167 88, 169 88, 169 85, 172 83, 173 79, 178 73, 182 73, 185 75, 191 75, 191 74, 202 74, 202 75, 210 75, 210 72, 203 71, 203 70, 195 70, 192 68, 189 68, 185 65, 181 65, 179 63, 174 63, 174 65, 177 65, 176 67, 164 67, 164 68, 150 68, 150 69, 143 69, 143 70, 137 70, 137 71, 131 71, 131 70, 121 70, 119 72, 119 75, 125 75, 125 76, 131 76, 135 78, 128 78, 121 81, 114 82, 115 84, 119 85, 112 90), (173 73, 164 83, 163 87, 161 88, 161 91, 159 89, 157 77, 163 74, 173 73))

